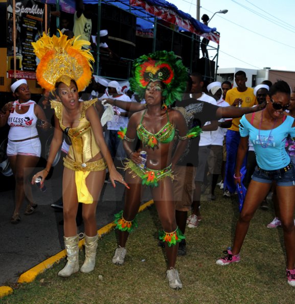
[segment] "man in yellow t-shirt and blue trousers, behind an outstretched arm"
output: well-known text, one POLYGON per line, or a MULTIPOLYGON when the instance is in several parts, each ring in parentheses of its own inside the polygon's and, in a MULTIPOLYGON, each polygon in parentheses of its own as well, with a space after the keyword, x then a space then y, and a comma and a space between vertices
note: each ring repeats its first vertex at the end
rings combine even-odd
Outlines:
MULTIPOLYGON (((232 88, 226 92, 225 101, 230 106, 236 107, 253 107, 257 104, 256 96, 253 88, 246 87, 247 77, 244 71, 238 71, 235 74, 235 82, 237 87, 232 88)), ((234 183, 234 173, 236 166, 236 156, 238 146, 240 143, 239 124, 240 117, 233 119, 231 128, 226 132, 226 165, 224 177, 224 196, 231 196, 236 191, 234 183)), ((246 157, 244 159, 244 165, 246 157)))

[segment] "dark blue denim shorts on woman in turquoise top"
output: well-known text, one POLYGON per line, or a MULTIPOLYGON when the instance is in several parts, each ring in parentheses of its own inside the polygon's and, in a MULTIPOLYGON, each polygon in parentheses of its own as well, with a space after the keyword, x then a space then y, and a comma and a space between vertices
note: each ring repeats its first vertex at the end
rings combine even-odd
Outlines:
POLYGON ((282 172, 282 170, 265 171, 256 167, 252 179, 263 183, 275 181, 278 186, 294 186, 295 168, 292 166, 288 171, 282 172))

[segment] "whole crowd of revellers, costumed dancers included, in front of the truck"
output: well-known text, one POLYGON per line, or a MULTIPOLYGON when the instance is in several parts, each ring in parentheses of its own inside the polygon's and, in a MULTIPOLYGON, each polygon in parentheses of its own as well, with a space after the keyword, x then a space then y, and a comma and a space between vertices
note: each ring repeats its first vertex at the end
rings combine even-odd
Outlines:
POLYGON ((176 258, 186 254, 186 226, 196 228, 202 219, 202 185, 210 186, 208 199, 215 200, 218 180, 225 197, 235 197, 237 184, 244 182, 247 193, 233 247, 216 263, 240 261, 249 223, 259 206, 267 207, 265 198, 272 191, 276 224, 268 227, 283 227, 287 282, 295 286, 295 93, 289 85, 277 81, 249 88, 245 73, 238 71, 236 87, 228 81, 205 87, 202 75, 188 75, 173 52, 157 51, 134 60, 133 77, 123 89, 117 81, 92 78, 90 42, 82 41, 64 39, 62 32, 54 39, 43 34, 33 43, 40 60, 37 80, 46 90, 42 106, 31 101, 27 82, 21 79, 11 85, 17 100, 1 108, 0 126, 10 125, 7 155, 16 180, 11 223, 20 222, 25 198, 29 203, 25 214, 34 213, 37 204, 29 180, 34 184, 40 177, 42 187, 63 146, 67 263, 58 275, 69 277, 79 271, 79 203, 85 227, 80 271, 94 270, 96 207, 104 182, 116 187, 117 181, 126 189, 124 208, 115 215, 119 242, 112 263, 124 264, 127 239, 138 226, 142 188, 148 187, 163 228, 160 245, 166 248, 168 284, 180 289, 176 258), (60 63, 54 70, 48 56, 60 63), (44 112, 49 100, 53 120, 44 112), (36 126, 54 129, 46 166, 39 172, 34 170, 41 154, 36 126), (118 159, 124 163, 125 178, 114 165, 118 159))

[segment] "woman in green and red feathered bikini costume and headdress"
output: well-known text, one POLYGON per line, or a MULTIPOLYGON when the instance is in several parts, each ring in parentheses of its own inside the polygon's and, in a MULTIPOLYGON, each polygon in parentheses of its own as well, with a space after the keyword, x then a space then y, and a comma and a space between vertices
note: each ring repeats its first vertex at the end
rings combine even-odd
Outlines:
POLYGON ((127 131, 121 134, 128 156, 125 165, 126 191, 124 211, 115 215, 119 229, 119 246, 112 262, 124 263, 129 232, 137 227, 135 217, 141 203, 143 185, 150 186, 152 197, 160 217, 163 233, 160 239, 166 243, 169 286, 182 288, 175 269, 178 242, 184 235, 177 227, 172 188, 172 169, 187 145, 187 125, 183 115, 168 108, 175 100, 181 100, 186 89, 187 71, 173 52, 158 51, 143 55, 133 63, 133 78, 129 80, 132 91, 146 100, 146 109, 134 113, 129 119, 127 131), (173 142, 180 138, 172 155, 173 142), (140 140, 140 148, 137 141, 140 140), (140 151, 146 151, 146 168, 138 165, 140 151))

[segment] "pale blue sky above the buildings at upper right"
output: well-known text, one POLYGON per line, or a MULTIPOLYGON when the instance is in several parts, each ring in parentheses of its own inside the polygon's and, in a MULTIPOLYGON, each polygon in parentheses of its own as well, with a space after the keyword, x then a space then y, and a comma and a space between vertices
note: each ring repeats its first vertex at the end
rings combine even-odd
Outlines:
MULTIPOLYGON (((196 18, 196 0, 167 0, 196 18)), ((218 66, 295 71, 294 0, 200 0, 200 17, 220 33, 218 66)), ((209 45, 217 47, 210 42, 209 45)), ((209 57, 216 54, 210 51, 209 57)))

